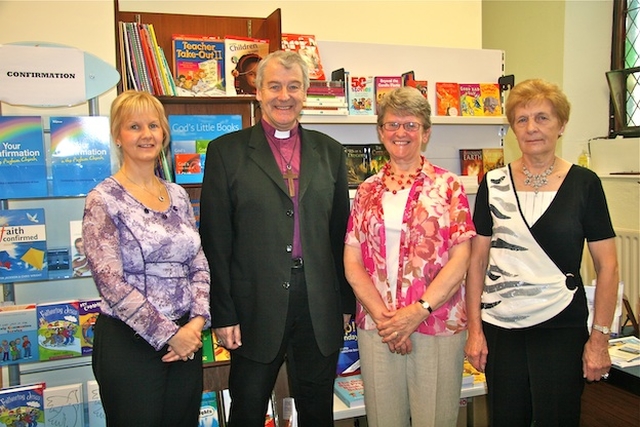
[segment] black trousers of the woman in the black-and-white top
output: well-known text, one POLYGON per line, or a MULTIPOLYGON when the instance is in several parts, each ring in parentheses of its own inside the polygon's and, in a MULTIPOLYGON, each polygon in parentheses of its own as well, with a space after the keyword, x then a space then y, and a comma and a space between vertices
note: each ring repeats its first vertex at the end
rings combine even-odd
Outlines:
POLYGON ((492 427, 578 427, 587 326, 503 329, 483 322, 492 427))

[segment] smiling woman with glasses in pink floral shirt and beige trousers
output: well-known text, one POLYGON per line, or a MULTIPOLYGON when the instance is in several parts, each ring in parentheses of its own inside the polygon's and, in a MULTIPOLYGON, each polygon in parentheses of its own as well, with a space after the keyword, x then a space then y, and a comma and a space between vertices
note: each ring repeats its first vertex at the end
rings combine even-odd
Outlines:
POLYGON ((360 185, 344 262, 358 308, 371 427, 455 426, 467 319, 463 279, 475 235, 458 177, 425 159, 431 107, 415 88, 380 102, 390 161, 360 185))

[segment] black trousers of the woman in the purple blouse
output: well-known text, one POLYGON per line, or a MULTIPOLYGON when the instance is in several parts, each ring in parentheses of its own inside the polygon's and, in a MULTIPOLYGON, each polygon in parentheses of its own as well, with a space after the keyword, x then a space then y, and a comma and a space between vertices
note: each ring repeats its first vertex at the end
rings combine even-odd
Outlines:
POLYGON ((108 427, 197 427, 202 400, 202 350, 166 363, 118 319, 100 315, 92 366, 108 427))

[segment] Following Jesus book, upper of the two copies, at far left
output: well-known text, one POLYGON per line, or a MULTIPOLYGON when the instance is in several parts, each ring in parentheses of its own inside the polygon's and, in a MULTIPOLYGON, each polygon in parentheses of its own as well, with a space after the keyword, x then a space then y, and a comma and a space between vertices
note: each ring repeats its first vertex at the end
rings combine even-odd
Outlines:
POLYGON ((40 361, 82 356, 80 302, 38 304, 40 361))

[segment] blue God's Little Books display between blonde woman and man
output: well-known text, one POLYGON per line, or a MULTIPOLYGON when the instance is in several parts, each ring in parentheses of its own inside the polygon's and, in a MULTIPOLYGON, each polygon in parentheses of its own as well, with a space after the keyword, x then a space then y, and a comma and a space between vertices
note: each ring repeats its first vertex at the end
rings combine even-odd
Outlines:
POLYGON ((209 142, 226 133, 242 129, 242 116, 172 115, 169 116, 169 127, 175 182, 200 184, 204 177, 204 161, 209 142))

